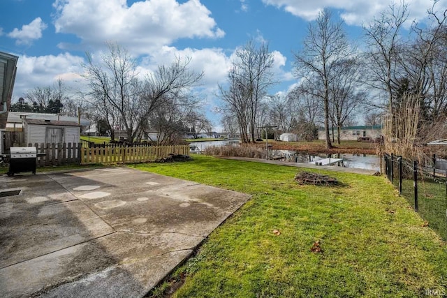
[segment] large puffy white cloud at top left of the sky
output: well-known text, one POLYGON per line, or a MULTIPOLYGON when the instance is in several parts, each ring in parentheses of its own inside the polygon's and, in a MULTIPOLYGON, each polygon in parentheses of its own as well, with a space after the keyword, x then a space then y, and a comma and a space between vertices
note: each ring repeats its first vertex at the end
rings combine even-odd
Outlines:
POLYGON ((149 53, 179 38, 225 35, 199 0, 57 0, 56 32, 73 33, 85 45, 116 41, 131 52, 149 53))

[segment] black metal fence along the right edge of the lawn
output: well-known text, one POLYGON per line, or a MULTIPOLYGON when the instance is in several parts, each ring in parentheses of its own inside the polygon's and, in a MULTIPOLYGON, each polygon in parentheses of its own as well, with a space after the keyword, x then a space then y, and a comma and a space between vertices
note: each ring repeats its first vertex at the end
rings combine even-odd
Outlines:
POLYGON ((447 240, 447 161, 409 161, 401 156, 383 156, 386 176, 411 207, 447 240))

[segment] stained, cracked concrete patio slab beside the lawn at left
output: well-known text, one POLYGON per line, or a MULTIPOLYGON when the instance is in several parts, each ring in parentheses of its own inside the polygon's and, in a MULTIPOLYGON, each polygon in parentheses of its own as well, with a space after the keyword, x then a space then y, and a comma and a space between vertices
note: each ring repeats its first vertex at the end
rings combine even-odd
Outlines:
POLYGON ((141 297, 247 200, 125 167, 0 177, 1 296, 141 297))

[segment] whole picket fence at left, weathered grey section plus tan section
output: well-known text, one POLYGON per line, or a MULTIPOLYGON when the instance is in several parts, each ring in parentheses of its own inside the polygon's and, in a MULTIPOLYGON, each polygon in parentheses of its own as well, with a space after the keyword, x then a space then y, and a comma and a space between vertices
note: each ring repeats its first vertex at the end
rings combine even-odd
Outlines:
POLYGON ((152 147, 96 147, 85 148, 81 143, 28 144, 36 147, 38 167, 46 165, 94 164, 94 163, 147 163, 168 157, 169 154, 189 155, 189 145, 152 147))

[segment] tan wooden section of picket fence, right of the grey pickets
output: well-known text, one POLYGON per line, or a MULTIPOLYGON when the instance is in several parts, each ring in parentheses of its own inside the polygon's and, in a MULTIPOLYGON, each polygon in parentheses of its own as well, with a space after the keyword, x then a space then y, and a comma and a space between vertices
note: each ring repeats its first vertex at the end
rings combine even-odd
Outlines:
POLYGON ((189 154, 189 145, 182 146, 152 146, 152 147, 96 147, 81 148, 80 163, 147 163, 169 154, 189 154))

